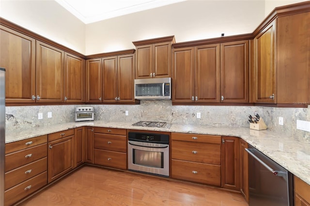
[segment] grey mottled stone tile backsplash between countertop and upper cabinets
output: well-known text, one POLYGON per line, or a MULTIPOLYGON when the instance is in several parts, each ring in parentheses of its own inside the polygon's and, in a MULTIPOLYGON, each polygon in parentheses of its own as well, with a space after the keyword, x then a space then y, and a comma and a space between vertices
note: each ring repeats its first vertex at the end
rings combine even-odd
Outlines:
MULTIPOLYGON (((74 109, 80 105, 7 106, 6 129, 20 130, 48 126, 75 120, 74 109), (52 112, 52 118, 47 118, 52 112), (43 113, 43 119, 38 119, 43 113)), ((310 132, 296 129, 296 120, 310 121, 308 108, 278 108, 263 106, 190 106, 172 105, 171 101, 141 101, 138 105, 94 104, 95 120, 106 121, 167 121, 169 123, 208 125, 210 127, 249 127, 248 114, 257 112, 269 130, 293 133, 310 139, 310 132), (125 111, 129 112, 125 116, 125 111), (197 118, 197 112, 201 118, 197 118), (284 125, 279 125, 283 117, 284 125)))

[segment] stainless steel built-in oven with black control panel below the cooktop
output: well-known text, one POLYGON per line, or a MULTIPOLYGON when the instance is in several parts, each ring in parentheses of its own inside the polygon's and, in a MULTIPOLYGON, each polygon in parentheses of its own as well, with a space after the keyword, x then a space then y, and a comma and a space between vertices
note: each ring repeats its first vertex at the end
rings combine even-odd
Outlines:
POLYGON ((168 134, 128 132, 128 170, 169 177, 168 134))

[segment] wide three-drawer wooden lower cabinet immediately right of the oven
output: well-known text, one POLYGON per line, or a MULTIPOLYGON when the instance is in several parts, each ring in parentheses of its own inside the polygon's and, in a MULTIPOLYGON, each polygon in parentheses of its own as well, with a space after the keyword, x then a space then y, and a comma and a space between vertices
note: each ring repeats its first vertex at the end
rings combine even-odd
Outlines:
POLYGON ((221 186, 221 137, 171 133, 171 177, 221 186))

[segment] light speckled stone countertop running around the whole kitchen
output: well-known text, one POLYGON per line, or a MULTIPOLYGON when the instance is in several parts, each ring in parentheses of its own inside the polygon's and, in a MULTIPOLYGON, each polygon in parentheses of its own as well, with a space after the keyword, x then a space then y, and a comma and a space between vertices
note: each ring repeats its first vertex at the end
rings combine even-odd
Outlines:
POLYGON ((295 137, 268 130, 256 131, 249 128, 210 128, 202 125, 172 124, 170 128, 149 128, 131 126, 135 122, 70 122, 45 127, 35 127, 22 131, 6 131, 5 143, 15 142, 53 132, 60 132, 80 126, 109 127, 147 131, 183 132, 236 136, 256 147, 266 156, 279 163, 282 167, 301 178, 310 185, 310 142, 295 137))

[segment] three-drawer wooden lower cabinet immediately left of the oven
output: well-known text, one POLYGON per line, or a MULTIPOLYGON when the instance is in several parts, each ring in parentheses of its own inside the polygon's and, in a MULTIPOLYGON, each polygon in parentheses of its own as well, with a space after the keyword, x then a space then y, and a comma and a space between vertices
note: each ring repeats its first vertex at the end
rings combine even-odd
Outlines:
POLYGON ((127 169, 127 131, 116 128, 94 128, 94 163, 127 169))

